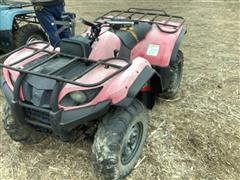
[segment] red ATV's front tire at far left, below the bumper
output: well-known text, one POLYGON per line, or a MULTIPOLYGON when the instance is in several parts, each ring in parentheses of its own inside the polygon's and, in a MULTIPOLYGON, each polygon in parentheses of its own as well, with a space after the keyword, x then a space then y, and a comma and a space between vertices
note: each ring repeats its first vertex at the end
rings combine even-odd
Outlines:
POLYGON ((37 132, 31 127, 15 121, 7 103, 5 103, 3 107, 2 121, 5 131, 14 141, 22 144, 36 144, 46 138, 45 134, 37 132))

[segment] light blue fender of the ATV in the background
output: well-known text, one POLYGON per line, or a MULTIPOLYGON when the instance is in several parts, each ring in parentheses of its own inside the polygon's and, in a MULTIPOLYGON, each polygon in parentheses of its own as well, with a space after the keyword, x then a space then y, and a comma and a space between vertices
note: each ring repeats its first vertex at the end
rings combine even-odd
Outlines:
POLYGON ((12 30, 14 18, 18 15, 32 14, 33 10, 7 9, 0 11, 0 31, 12 30))

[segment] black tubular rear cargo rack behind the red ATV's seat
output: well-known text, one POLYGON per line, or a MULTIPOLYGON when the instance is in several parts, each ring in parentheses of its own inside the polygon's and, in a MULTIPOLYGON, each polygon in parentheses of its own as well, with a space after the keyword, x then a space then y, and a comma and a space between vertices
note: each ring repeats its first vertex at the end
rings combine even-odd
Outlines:
POLYGON ((97 23, 99 20, 127 20, 132 22, 155 24, 160 31, 165 33, 177 32, 185 22, 183 17, 169 15, 164 10, 140 8, 129 8, 126 11, 112 10, 95 19, 95 22, 97 23))

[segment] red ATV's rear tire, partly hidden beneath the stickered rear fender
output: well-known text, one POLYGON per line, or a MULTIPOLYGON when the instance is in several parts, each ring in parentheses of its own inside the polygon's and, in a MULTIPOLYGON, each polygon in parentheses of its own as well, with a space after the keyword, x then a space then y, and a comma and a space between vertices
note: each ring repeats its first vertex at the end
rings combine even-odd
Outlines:
POLYGON ((173 64, 170 68, 173 71, 174 75, 172 80, 169 83, 169 87, 167 90, 161 95, 164 99, 174 99, 178 93, 181 79, 182 79, 182 72, 183 72, 183 53, 181 50, 178 50, 176 63, 173 64))

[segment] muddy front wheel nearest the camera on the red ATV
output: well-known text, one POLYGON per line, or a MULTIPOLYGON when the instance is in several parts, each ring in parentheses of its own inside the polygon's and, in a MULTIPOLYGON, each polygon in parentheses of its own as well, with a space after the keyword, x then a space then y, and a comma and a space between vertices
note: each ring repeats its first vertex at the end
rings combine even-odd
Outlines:
POLYGON ((143 151, 148 119, 146 108, 138 100, 103 118, 92 146, 93 166, 99 178, 121 179, 133 170, 143 151))

